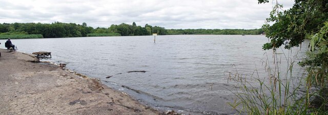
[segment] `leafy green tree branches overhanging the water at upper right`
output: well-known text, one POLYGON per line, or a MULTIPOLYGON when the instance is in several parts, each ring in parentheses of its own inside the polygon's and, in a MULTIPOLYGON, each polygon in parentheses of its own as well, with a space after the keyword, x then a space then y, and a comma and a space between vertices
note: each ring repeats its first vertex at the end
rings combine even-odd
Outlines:
MULTIPOLYGON (((259 0, 259 3, 267 3, 267 0, 259 0)), ((277 2, 277 1, 276 1, 277 2)), ((295 1, 294 6, 282 11, 283 6, 275 4, 267 22, 273 25, 262 26, 270 43, 263 46, 264 50, 277 49, 284 45, 285 49, 298 47, 306 35, 316 33, 328 20, 328 1, 307 0, 295 1)))

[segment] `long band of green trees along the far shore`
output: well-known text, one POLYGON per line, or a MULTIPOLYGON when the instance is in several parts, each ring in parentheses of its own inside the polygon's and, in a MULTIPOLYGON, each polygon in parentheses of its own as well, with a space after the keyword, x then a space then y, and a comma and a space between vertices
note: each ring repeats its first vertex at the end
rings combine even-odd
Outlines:
POLYGON ((7 38, 60 38, 60 37, 92 37, 92 36, 143 36, 152 35, 183 35, 183 34, 220 34, 220 35, 257 35, 262 29, 165 29, 164 27, 137 26, 120 24, 109 28, 92 28, 84 22, 82 25, 74 23, 53 22, 41 23, 13 23, 0 24, 0 39, 7 38))

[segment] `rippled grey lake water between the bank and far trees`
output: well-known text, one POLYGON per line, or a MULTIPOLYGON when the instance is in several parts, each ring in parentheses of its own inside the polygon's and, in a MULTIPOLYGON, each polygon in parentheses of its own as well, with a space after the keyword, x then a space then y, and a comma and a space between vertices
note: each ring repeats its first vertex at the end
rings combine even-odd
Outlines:
MULTIPOLYGON (((268 42, 262 35, 167 35, 156 36, 156 43, 153 39, 153 36, 122 36, 12 42, 20 52, 52 52, 48 61, 66 63, 70 70, 98 78, 150 106, 187 114, 235 113, 226 104, 234 100, 229 91, 234 83, 227 83, 227 72, 235 73, 237 68, 238 73, 251 75, 258 70, 259 76, 265 78, 263 62, 272 60, 272 51, 262 50, 262 45, 268 42), (106 79, 107 76, 112 77, 106 79), (212 86, 213 83, 216 85, 212 86)), ((5 41, 0 40, 3 43, 0 48, 4 48, 5 41)), ((304 57, 307 46, 308 43, 303 43, 290 55, 286 50, 278 52, 284 52, 297 63, 304 57)), ((278 57, 280 66, 286 67, 285 56, 278 57)), ((303 69, 295 64, 294 72, 294 76, 301 76, 303 69)))

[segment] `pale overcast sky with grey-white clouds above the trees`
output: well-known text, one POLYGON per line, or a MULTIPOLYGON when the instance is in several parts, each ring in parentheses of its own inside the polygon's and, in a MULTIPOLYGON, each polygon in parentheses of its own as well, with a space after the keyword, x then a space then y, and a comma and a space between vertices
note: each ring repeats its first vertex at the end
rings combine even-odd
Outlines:
MULTIPOLYGON (((284 9, 292 0, 280 0, 284 9)), ((0 23, 59 21, 108 28, 126 23, 166 29, 258 29, 273 3, 257 0, 0 0, 0 23)))

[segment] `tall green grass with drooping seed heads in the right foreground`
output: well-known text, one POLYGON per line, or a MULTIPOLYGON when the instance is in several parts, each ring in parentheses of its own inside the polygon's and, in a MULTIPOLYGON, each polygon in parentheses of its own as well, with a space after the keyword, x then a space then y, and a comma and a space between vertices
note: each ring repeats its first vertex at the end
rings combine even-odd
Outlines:
POLYGON ((312 100, 318 96, 324 99, 319 95, 322 91, 315 90, 311 80, 305 77, 296 81, 293 76, 295 61, 289 54, 282 54, 288 64, 285 72, 280 70, 282 67, 278 64, 280 59, 276 52, 273 53, 273 62, 269 62, 268 55, 263 62, 268 76, 260 77, 257 70, 250 76, 243 76, 238 71, 228 72, 228 80, 240 87, 232 91, 237 99, 228 104, 239 114, 328 114, 325 109, 322 110, 327 100, 319 106, 312 104, 312 100))

